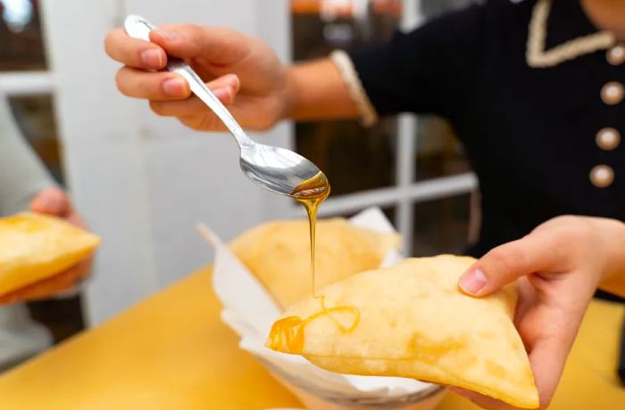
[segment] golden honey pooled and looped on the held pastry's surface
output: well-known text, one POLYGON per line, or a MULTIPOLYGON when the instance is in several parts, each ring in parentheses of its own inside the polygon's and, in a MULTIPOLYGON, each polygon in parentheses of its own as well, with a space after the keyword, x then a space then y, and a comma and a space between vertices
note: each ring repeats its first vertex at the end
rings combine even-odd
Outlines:
POLYGON ((274 350, 285 351, 292 354, 302 354, 304 352, 304 329, 315 319, 323 316, 329 318, 337 325, 341 332, 349 333, 360 324, 360 310, 354 306, 326 307, 325 296, 321 295, 321 312, 312 314, 302 319, 299 316, 287 316, 280 319, 271 326, 269 333, 269 347, 274 350), (342 324, 332 313, 346 312, 354 315, 354 323, 351 326, 342 324))

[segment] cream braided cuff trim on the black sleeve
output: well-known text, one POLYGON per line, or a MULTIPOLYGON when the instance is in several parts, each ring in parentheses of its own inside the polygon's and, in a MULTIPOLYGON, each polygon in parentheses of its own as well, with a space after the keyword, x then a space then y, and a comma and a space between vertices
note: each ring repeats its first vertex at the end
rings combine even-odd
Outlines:
POLYGON ((356 104, 362 126, 371 127, 375 125, 378 122, 378 113, 375 111, 373 104, 371 104, 366 91, 364 91, 358 72, 354 67, 354 62, 349 57, 349 54, 343 50, 335 50, 329 54, 329 57, 337 66, 347 86, 349 96, 356 104))

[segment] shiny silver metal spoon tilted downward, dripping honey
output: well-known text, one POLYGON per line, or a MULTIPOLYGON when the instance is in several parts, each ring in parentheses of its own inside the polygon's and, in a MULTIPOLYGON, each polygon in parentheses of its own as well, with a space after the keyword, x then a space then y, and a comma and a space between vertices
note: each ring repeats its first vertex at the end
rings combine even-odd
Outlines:
MULTIPOLYGON (((129 15, 124 28, 130 37, 150 41, 150 31, 156 26, 137 15, 129 15)), ((314 178, 326 181, 326 177, 310 160, 296 152, 284 148, 255 143, 246 135, 228 109, 204 84, 196 71, 186 62, 168 57, 167 70, 179 74, 188 81, 193 94, 196 94, 221 119, 237 140, 241 149, 240 164, 244 174, 256 184, 282 195, 295 197, 300 186, 314 178)))

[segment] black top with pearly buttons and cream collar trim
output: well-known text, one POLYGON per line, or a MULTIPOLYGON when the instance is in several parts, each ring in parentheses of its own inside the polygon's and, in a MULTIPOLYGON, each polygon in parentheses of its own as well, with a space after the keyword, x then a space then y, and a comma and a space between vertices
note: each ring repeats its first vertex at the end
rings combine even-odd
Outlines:
POLYGON ((625 220, 624 47, 598 32, 578 0, 490 0, 350 52, 379 115, 436 113, 462 140, 482 196, 473 255, 563 214, 625 220), (541 29, 552 62, 530 64, 541 29))

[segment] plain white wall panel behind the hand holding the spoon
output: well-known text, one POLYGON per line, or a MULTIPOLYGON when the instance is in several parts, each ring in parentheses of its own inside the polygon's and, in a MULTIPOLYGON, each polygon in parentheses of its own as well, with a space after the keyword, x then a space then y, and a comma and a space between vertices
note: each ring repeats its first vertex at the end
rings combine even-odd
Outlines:
MULTIPOLYGON (((64 163, 74 201, 104 242, 87 290, 96 324, 208 263, 196 234, 204 221, 224 239, 287 214, 292 204, 262 191, 238 168, 228 135, 199 134, 122 97, 105 33, 127 13, 155 23, 190 22, 262 37, 287 60, 287 0, 44 0, 64 163)), ((291 145, 284 124, 262 137, 291 145)))

